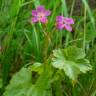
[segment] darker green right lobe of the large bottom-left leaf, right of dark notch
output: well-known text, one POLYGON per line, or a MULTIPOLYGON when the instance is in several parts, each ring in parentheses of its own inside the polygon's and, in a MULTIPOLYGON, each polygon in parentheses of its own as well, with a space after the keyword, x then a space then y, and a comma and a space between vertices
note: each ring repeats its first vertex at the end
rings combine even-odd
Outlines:
POLYGON ((28 96, 51 96, 50 80, 46 72, 37 80, 36 84, 32 86, 28 96))

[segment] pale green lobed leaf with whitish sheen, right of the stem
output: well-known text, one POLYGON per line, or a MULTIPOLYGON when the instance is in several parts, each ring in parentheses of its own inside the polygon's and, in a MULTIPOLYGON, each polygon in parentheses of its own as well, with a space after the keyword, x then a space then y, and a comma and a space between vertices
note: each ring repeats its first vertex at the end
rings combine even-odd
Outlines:
POLYGON ((92 69, 89 61, 85 59, 85 53, 81 48, 70 46, 65 49, 53 51, 52 65, 55 68, 64 70, 65 75, 76 80, 80 73, 86 73, 92 69))

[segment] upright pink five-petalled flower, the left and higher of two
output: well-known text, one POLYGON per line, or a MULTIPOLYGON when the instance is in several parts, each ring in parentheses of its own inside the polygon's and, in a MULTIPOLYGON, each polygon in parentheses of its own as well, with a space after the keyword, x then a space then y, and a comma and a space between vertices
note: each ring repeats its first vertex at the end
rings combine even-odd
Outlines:
POLYGON ((38 6, 36 10, 32 10, 32 22, 47 23, 47 16, 49 16, 50 14, 50 10, 45 10, 44 6, 38 6))

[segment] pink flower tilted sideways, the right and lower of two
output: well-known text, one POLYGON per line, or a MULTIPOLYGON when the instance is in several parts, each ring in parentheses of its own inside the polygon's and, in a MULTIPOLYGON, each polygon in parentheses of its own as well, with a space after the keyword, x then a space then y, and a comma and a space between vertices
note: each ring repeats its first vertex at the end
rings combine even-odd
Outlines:
POLYGON ((74 24, 74 20, 72 18, 67 18, 63 16, 56 17, 56 27, 59 30, 66 29, 68 31, 72 31, 71 24, 74 24))

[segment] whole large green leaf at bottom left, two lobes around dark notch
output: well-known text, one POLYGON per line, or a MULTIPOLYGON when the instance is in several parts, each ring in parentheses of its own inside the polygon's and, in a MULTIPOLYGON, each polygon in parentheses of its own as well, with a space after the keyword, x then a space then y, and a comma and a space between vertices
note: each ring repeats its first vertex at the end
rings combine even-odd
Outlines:
POLYGON ((47 72, 43 72, 35 84, 32 84, 31 77, 31 70, 22 68, 13 76, 3 96, 51 96, 50 78, 47 72))

